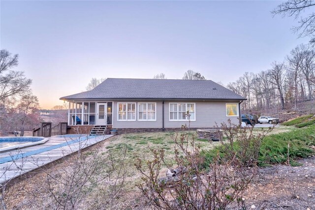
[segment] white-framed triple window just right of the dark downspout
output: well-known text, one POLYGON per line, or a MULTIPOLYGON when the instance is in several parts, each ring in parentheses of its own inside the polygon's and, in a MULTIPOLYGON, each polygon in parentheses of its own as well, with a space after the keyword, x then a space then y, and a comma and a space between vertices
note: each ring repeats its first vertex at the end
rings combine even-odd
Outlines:
POLYGON ((188 121, 187 111, 189 111, 190 120, 195 121, 195 103, 169 103, 169 120, 188 121))

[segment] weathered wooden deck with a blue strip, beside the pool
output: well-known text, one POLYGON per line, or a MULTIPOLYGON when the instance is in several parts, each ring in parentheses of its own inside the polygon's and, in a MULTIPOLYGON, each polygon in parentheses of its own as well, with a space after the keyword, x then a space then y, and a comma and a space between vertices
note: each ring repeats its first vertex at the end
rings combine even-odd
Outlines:
POLYGON ((55 136, 44 144, 0 153, 0 185, 112 136, 55 136))

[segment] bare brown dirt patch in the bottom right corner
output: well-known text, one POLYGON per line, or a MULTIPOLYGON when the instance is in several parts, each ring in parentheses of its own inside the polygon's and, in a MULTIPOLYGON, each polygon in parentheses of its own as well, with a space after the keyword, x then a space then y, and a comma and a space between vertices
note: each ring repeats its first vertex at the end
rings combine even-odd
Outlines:
POLYGON ((314 210, 315 157, 298 162, 302 165, 260 168, 246 190, 247 206, 259 210, 314 210))

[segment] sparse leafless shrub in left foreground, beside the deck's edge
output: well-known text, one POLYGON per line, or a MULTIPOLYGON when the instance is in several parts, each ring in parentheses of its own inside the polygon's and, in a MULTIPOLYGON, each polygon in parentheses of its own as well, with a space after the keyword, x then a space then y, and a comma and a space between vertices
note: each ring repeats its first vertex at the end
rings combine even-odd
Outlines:
POLYGON ((126 148, 116 158, 111 151, 103 152, 100 145, 81 148, 69 155, 68 164, 42 169, 45 180, 29 193, 27 206, 33 209, 112 209, 123 193, 126 148))

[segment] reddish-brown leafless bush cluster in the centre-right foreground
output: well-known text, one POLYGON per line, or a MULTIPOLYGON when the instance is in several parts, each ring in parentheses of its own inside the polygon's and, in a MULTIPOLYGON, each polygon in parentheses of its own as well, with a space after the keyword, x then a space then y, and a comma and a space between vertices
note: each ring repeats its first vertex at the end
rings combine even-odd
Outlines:
MULTIPOLYGON (((269 130, 268 130, 269 131, 269 130)), ((170 171, 172 165, 165 159, 163 149, 151 149, 152 160, 137 159, 137 170, 143 175, 138 185, 149 205, 168 210, 215 210, 230 205, 244 209, 243 193, 256 175, 258 149, 268 132, 254 135, 252 130, 239 126, 222 125, 222 153, 214 155, 205 170, 204 156, 196 145, 196 136, 188 133, 176 134, 174 164, 177 173, 173 177, 161 178, 164 166, 170 171), (240 149, 235 151, 237 142, 240 149), (247 166, 251 167, 247 167, 247 166)))

